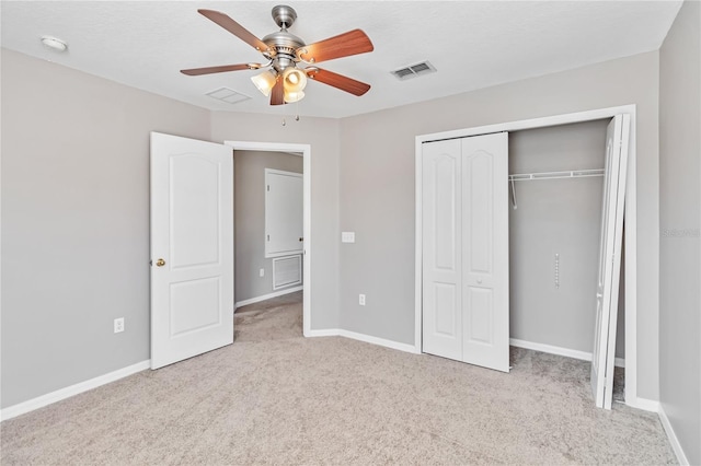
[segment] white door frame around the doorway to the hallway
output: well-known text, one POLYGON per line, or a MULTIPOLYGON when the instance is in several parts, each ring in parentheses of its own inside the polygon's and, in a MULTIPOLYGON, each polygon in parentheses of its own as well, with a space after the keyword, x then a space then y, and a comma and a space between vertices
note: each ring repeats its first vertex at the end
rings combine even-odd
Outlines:
MULTIPOLYGON (((304 251, 302 252, 302 334, 311 336, 311 145, 287 142, 256 142, 256 141, 223 141, 234 151, 265 151, 285 152, 290 155, 301 153, 302 185, 303 185, 303 237, 304 251)), ((233 154, 235 159, 235 153, 233 154)))

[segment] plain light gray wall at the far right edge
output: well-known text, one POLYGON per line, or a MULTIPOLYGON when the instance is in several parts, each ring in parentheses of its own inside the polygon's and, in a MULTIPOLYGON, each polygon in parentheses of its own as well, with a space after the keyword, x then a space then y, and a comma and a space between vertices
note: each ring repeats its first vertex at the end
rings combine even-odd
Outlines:
POLYGON ((659 394, 701 464, 701 8, 686 1, 659 57, 659 394))

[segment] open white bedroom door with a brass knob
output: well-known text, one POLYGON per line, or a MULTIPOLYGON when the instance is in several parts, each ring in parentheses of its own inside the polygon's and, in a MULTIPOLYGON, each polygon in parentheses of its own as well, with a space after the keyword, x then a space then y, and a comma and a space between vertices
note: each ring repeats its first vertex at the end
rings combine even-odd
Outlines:
POLYGON ((151 133, 151 369, 233 342, 233 152, 151 133))

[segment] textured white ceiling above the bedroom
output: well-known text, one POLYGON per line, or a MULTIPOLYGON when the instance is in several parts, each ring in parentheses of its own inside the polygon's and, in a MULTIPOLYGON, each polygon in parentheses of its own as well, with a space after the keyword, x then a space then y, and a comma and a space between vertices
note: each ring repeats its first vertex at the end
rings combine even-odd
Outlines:
POLYGON ((264 61, 197 13, 230 15, 257 37, 277 31, 271 1, 5 1, 2 46, 145 91, 216 110, 344 117, 656 50, 680 1, 292 1, 290 33, 314 43, 364 30, 375 51, 322 63, 367 82, 356 97, 311 82, 299 104, 271 107, 250 77, 186 77, 183 68, 264 61), (53 35, 65 54, 43 47, 53 35), (429 60, 438 70, 399 81, 391 70, 429 60), (207 92, 227 86, 252 98, 234 105, 207 92))

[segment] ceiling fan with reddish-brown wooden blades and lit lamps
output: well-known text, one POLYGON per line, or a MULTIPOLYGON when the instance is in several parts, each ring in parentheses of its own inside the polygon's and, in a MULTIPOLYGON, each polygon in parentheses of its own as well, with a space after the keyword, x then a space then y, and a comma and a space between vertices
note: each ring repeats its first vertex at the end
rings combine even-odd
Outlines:
POLYGON ((263 95, 271 97, 271 105, 300 101, 304 96, 307 78, 357 96, 365 94, 370 89, 369 84, 315 66, 322 61, 372 51, 375 47, 370 38, 360 30, 353 30, 307 45, 301 38, 287 32, 287 28, 295 23, 297 12, 291 7, 279 4, 273 8, 273 20, 280 27, 280 31, 268 34, 261 40, 220 11, 200 9, 197 12, 254 47, 268 61, 266 63, 223 65, 181 70, 184 74, 199 75, 226 71, 258 70, 269 67, 251 80, 263 95), (297 68, 300 63, 310 66, 303 69, 297 68))

